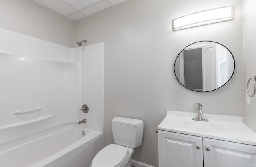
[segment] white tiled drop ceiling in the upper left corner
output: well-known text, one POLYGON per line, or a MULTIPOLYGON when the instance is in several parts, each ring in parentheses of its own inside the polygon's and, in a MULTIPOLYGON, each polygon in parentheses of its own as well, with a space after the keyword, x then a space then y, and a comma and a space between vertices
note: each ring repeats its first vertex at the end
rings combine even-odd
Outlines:
POLYGON ((33 0, 69 18, 78 20, 126 0, 33 0))

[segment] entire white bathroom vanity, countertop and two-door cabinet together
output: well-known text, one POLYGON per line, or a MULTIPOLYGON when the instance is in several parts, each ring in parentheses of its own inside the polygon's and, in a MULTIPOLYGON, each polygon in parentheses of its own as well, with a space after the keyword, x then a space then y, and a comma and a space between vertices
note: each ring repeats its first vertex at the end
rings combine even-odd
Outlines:
POLYGON ((158 126, 159 167, 256 166, 256 133, 243 117, 167 111, 158 126))

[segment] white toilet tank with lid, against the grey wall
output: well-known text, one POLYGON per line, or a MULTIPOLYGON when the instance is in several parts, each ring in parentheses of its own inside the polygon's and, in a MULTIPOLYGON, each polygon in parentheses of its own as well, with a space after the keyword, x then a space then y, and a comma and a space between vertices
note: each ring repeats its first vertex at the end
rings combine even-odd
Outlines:
POLYGON ((143 121, 114 117, 112 119, 112 132, 114 143, 130 148, 139 147, 142 142, 143 121))

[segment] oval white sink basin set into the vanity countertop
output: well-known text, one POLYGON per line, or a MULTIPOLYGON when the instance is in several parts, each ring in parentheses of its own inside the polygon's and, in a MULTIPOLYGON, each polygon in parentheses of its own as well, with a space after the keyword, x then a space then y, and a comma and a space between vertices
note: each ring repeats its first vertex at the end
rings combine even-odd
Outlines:
POLYGON ((189 130, 195 130, 203 133, 226 133, 228 129, 223 126, 203 121, 184 121, 180 126, 189 130))

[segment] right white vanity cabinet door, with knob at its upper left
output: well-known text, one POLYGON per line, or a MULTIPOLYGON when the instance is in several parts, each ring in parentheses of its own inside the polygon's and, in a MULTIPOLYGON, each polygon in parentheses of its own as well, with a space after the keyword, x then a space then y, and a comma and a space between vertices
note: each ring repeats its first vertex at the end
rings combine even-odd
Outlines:
POLYGON ((256 166, 256 146, 208 138, 203 141, 204 167, 256 166))

